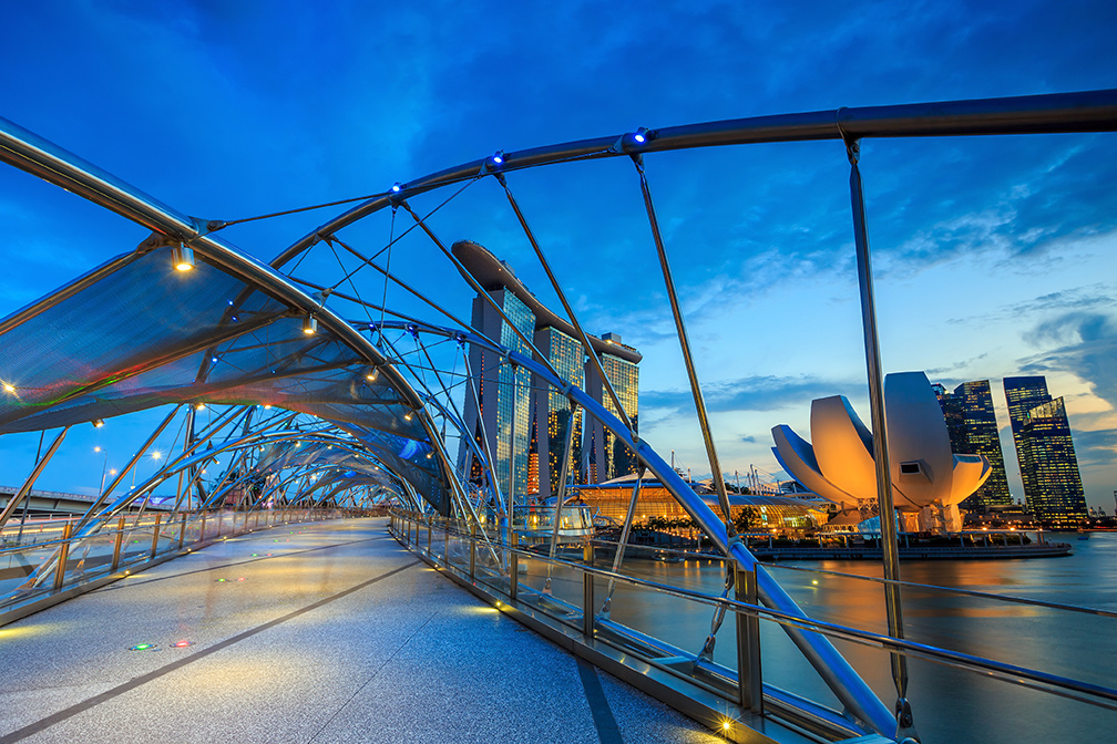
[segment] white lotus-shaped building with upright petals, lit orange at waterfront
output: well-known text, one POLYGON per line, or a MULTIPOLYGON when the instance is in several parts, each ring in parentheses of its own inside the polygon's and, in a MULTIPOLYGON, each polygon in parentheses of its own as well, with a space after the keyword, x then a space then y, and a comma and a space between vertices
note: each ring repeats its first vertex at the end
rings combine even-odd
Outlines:
MULTIPOLYGON (((922 371, 885 378, 888 460, 896 508, 952 506, 990 475, 981 455, 955 455, 935 392, 922 371)), ((772 452, 787 473, 814 493, 848 508, 877 496, 872 433, 844 396, 811 402, 809 443, 785 424, 773 427, 772 452)))

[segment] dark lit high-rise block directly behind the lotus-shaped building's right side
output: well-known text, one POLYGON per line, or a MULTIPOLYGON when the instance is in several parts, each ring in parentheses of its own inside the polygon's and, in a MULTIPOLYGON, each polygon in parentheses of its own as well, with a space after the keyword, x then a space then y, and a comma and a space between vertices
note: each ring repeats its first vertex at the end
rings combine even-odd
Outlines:
POLYGON ((1004 453, 989 380, 963 383, 954 388, 954 393, 947 393, 942 385, 932 387, 943 407, 951 450, 960 455, 983 455, 991 468, 989 479, 958 506, 965 511, 985 512, 991 506, 1011 504, 1012 494, 1004 471, 1004 453))

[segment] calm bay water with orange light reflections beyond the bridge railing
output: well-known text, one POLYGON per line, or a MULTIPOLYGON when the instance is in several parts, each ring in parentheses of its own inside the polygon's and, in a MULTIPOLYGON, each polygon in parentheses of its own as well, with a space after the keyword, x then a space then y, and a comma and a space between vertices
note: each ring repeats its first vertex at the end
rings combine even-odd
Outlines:
MULTIPOLYGON (((1071 542, 1066 558, 1013 561, 914 561, 900 567, 905 581, 1004 593, 1117 611, 1117 534, 1097 533, 1071 542)), ((868 561, 796 562, 770 571, 818 619, 887 632, 884 587, 817 569, 865 577, 881 576, 868 561), (811 571, 790 570, 812 569, 811 571)), ((662 563, 631 560, 626 572, 652 581, 719 593, 723 569, 712 561, 662 563)), ((575 579, 563 577, 574 583, 575 579)), ((571 586, 570 595, 580 592, 571 586)), ((604 587, 598 589, 603 598, 604 587)), ((713 608, 631 587, 618 587, 612 618, 696 653, 710 629, 713 608)), ((906 637, 943 648, 986 656, 1051 674, 1113 686, 1117 658, 1115 621, 1063 610, 1005 603, 939 590, 904 590, 906 637)), ((715 660, 736 667, 732 618, 717 637, 715 660)), ((839 650, 889 706, 895 699, 888 655, 848 641, 839 650)), ((762 622, 764 679, 818 702, 840 707, 799 650, 772 622, 762 622)), ((925 742, 962 736, 983 742, 1081 741, 1114 731, 1117 713, 1046 695, 941 664, 911 659, 908 696, 925 742)))

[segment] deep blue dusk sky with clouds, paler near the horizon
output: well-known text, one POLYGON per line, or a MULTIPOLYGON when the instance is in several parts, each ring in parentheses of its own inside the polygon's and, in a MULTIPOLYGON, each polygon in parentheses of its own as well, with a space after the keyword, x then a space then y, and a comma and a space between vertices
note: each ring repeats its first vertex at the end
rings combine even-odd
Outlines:
MULTIPOLYGON (((1111 2, 771 4, 19 3, 0 28, 0 116, 183 212, 230 220, 638 126, 1117 85, 1111 2)), ((1003 427, 1000 378, 1046 374, 1067 398, 1088 501, 1107 511, 1115 155, 1117 136, 1076 135, 867 142, 862 157, 885 370, 949 387, 990 378, 1003 427)), ((813 397, 846 394, 867 419, 840 144, 670 153, 647 167, 725 467, 775 472, 768 429, 809 435, 813 397)), ((641 436, 708 472, 631 164, 509 184, 586 326, 643 352, 641 436)), ((268 260, 332 213, 227 236, 268 260)), ((0 315, 145 238, 8 167, 0 225, 0 315)), ((432 225, 481 242, 557 307, 495 184, 470 186, 432 225)), ((372 247, 390 230, 378 215, 345 239, 372 247)), ((445 287, 465 315, 468 290, 416 238, 393 267, 445 287)), ((328 276, 330 260, 306 270, 328 276)), ((67 448, 92 452, 93 436, 67 448)), ((6 438, 11 484, 38 439, 6 438)), ((1011 445, 1005 455, 1019 497, 1011 445)), ((99 477, 99 456, 67 463, 41 484, 99 477)))

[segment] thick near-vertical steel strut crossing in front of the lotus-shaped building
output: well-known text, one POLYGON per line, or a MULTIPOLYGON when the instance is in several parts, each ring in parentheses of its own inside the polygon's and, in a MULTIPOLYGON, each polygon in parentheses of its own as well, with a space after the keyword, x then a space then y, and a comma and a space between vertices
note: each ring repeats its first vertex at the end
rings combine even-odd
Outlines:
MULTIPOLYGON (((872 415, 872 458, 877 471, 877 501, 880 508, 880 544, 885 563, 885 610, 888 635, 904 638, 904 615, 900 606, 899 547, 896 544, 896 510, 892 505, 891 470, 888 462, 888 438, 885 422, 885 393, 880 376, 880 342, 877 337, 877 310, 872 293, 872 264, 869 259, 869 231, 865 215, 865 190, 858 161, 861 143, 846 139, 849 156, 849 193, 853 210, 853 242, 857 249, 857 278, 861 290, 861 323, 865 331, 865 365, 869 376, 869 410, 872 415)), ((898 650, 891 656, 892 682, 896 685, 896 741, 919 741, 907 700, 907 657, 898 650)))

